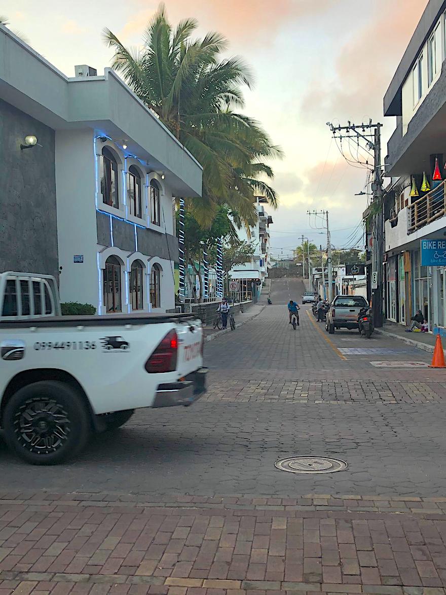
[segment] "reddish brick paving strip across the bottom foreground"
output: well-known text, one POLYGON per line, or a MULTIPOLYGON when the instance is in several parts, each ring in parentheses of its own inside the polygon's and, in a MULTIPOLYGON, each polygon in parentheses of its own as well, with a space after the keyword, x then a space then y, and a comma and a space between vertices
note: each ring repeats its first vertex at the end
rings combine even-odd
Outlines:
POLYGON ((436 595, 445 510, 446 498, 4 493, 0 595, 436 595))

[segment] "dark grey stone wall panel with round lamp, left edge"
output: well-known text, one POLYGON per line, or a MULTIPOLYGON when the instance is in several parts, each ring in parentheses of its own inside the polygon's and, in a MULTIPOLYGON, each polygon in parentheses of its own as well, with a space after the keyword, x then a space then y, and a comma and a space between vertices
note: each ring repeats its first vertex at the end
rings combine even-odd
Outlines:
POLYGON ((0 100, 0 271, 58 276, 54 137, 0 100), (42 146, 21 151, 27 134, 42 146))

